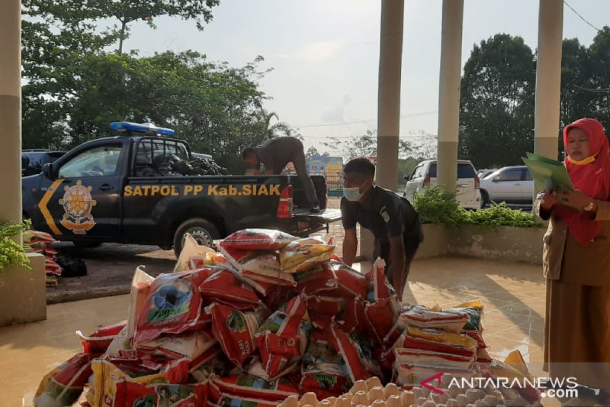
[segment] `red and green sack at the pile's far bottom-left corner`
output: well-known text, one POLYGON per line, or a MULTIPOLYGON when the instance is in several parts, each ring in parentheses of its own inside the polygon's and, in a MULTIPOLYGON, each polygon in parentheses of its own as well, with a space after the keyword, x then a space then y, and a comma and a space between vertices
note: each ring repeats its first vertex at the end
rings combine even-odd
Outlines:
POLYGON ((46 374, 34 395, 34 405, 57 407, 76 402, 92 373, 91 361, 97 357, 99 354, 77 353, 46 374))

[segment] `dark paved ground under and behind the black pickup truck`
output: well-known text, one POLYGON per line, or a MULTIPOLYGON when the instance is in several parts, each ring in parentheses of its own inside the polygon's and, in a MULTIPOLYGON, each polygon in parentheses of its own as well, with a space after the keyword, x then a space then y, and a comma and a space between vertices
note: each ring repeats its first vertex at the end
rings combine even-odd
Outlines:
MULTIPOLYGON (((331 198, 328 206, 338 208, 339 199, 331 198)), ((335 236, 336 253, 342 253, 341 222, 333 223, 324 236, 335 236)), ((72 243, 63 242, 57 243, 56 247, 70 256, 83 259, 88 273, 84 277, 59 278, 57 287, 47 289, 49 304, 126 294, 138 265, 145 266, 147 273, 156 276, 171 272, 176 262, 173 250, 160 250, 157 246, 104 243, 92 249, 78 249, 72 243)))

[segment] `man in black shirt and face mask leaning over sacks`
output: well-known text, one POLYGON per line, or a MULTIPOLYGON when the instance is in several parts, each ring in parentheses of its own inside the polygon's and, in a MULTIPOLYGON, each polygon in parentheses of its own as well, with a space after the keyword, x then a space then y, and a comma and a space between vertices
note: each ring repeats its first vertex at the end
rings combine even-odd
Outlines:
POLYGON ((343 172, 343 261, 348 265, 354 262, 358 247, 356 223, 360 223, 375 235, 373 258, 386 261, 386 276, 402 299, 411 261, 423 242, 417 212, 395 192, 373 185, 375 165, 368 159, 351 160, 343 172))

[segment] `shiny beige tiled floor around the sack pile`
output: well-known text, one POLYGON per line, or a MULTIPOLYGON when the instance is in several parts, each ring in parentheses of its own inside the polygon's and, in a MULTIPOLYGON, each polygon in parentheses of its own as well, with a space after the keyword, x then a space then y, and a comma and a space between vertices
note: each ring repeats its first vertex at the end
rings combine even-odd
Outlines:
MULTIPOLYGON (((362 264, 363 268, 368 265, 362 264)), ((519 349, 526 361, 542 362, 545 287, 540 268, 464 258, 417 261, 404 300, 455 306, 480 298, 484 338, 493 357, 519 349)), ((51 305, 48 320, 0 328, 0 407, 30 406, 40 378, 79 351, 75 330, 125 319, 127 295, 51 305)), ((534 373, 534 372, 533 372, 534 373)))

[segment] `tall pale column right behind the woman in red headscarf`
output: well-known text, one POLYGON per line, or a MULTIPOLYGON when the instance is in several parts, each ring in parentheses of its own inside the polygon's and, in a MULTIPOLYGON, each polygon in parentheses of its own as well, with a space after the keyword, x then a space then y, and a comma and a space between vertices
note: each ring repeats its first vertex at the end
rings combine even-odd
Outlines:
POLYGON ((559 147, 563 19, 564 3, 562 0, 540 0, 534 152, 552 159, 558 158, 559 147))

